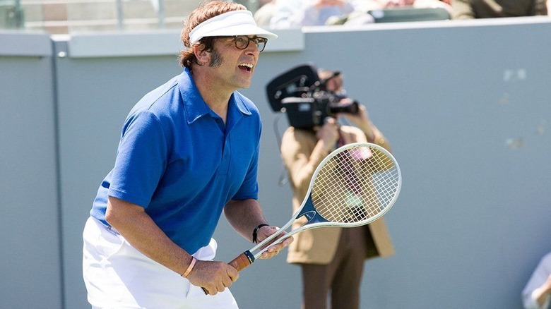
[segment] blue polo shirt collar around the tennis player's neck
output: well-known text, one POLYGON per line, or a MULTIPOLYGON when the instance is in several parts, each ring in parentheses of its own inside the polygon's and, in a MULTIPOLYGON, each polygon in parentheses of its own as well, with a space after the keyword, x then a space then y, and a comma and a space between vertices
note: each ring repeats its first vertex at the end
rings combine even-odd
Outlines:
MULTIPOLYGON (((210 114, 211 109, 208 107, 205 100, 203 100, 203 97, 201 97, 201 93, 199 93, 199 89, 197 89, 194 79, 191 77, 189 68, 184 68, 184 72, 180 74, 178 79, 179 92, 182 95, 182 104, 184 104, 184 112, 186 114, 187 123, 193 123, 197 119, 201 118, 201 116, 210 114)), ((241 118, 239 114, 251 114, 249 108, 244 104, 242 95, 238 92, 232 93, 227 114, 229 118, 237 116, 235 121, 237 121, 237 118, 241 118)))

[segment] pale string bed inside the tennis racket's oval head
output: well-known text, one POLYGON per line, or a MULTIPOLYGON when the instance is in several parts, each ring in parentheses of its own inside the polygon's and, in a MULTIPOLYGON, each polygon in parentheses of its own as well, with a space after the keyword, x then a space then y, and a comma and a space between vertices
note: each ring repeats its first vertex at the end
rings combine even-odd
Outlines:
POLYGON ((365 145, 332 154, 314 179, 316 211, 330 222, 358 223, 379 214, 398 191, 398 170, 384 152, 365 145))

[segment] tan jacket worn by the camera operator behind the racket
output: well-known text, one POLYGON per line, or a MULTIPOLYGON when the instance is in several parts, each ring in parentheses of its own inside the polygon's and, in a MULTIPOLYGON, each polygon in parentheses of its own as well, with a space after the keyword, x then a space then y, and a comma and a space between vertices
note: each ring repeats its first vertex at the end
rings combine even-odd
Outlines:
MULTIPOLYGON (((365 134, 352 126, 341 126, 345 143, 367 142, 365 134)), ((384 135, 373 126, 375 142, 390 151, 390 145, 384 135)), ((316 167, 326 157, 326 153, 316 148, 317 138, 314 132, 290 127, 285 131, 281 143, 283 163, 288 172, 293 190, 293 213, 302 205, 310 179, 316 167)), ((303 220, 306 221, 305 219, 303 220)), ((304 224, 295 223, 294 228, 304 224)), ((367 237, 367 254, 369 257, 388 257, 394 254, 394 248, 384 218, 362 227, 369 229, 367 237), (369 236, 369 234, 368 234, 369 236)), ((328 264, 335 255, 341 228, 324 227, 302 231, 293 236, 295 241, 289 246, 287 261, 290 263, 328 264)))

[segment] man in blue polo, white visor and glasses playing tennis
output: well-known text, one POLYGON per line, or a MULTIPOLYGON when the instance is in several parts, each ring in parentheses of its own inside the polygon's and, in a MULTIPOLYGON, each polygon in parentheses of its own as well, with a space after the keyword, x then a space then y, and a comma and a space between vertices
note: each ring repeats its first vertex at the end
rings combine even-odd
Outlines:
POLYGON ((211 1, 190 13, 184 71, 131 109, 85 225, 93 308, 237 308, 226 288, 239 274, 213 261, 212 236, 222 212, 251 241, 277 229, 257 201, 259 111, 236 91, 250 86, 276 37, 240 4, 211 1))

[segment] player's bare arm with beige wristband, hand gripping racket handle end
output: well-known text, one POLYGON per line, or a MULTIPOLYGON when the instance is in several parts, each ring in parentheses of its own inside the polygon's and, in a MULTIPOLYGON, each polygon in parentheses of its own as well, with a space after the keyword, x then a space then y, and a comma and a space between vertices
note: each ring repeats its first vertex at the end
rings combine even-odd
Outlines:
MULTIPOLYGON (((191 264, 191 255, 171 241, 143 207, 109 197, 105 219, 126 241, 151 260, 178 274, 184 274, 191 264)), ((186 276, 191 284, 204 287, 211 295, 224 291, 238 277, 239 274, 230 265, 211 261, 197 261, 186 276)))

